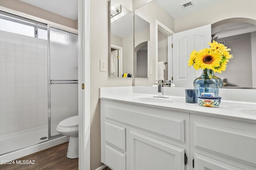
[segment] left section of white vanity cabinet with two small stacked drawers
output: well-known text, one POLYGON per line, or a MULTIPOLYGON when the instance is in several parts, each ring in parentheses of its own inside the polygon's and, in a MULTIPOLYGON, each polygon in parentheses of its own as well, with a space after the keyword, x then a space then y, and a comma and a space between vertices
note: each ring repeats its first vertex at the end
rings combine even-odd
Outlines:
POLYGON ((189 114, 101 100, 101 161, 112 170, 188 170, 189 114))

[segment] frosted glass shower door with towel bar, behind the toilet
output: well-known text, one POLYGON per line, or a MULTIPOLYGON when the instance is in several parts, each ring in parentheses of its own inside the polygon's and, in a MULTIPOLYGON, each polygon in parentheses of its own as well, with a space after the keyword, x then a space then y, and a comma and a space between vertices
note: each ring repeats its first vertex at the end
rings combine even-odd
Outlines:
POLYGON ((78 115, 78 35, 48 26, 49 139, 58 123, 78 115))

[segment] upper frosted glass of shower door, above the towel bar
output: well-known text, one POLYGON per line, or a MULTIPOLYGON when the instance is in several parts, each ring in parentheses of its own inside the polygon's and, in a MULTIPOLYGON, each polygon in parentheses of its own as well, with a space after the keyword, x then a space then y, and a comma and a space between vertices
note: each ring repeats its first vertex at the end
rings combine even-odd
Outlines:
POLYGON ((50 79, 78 80, 78 35, 50 27, 50 79))

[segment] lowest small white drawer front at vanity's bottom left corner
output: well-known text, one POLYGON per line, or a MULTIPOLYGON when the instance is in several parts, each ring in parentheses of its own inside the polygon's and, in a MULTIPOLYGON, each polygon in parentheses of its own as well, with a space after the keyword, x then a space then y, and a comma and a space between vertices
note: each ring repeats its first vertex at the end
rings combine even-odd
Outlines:
POLYGON ((126 170, 126 155, 105 145, 105 164, 112 170, 126 170))

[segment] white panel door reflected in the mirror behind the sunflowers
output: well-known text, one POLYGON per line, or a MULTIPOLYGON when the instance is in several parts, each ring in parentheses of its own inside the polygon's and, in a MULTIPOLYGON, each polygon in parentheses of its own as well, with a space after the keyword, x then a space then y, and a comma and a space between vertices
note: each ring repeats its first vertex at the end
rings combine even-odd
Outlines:
POLYGON ((210 41, 210 24, 173 34, 173 82, 176 86, 193 86, 194 78, 200 76, 202 70, 188 67, 189 55, 194 49, 209 47, 210 41))

